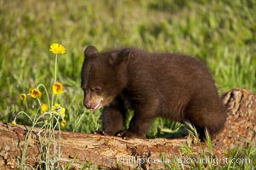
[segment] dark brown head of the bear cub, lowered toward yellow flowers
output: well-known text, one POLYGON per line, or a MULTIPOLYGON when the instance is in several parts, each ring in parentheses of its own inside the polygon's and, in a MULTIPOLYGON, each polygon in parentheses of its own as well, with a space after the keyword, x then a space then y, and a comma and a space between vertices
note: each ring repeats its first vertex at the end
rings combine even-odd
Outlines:
POLYGON ((81 72, 83 105, 94 111, 122 94, 127 83, 127 65, 130 49, 99 53, 94 46, 84 50, 81 72))

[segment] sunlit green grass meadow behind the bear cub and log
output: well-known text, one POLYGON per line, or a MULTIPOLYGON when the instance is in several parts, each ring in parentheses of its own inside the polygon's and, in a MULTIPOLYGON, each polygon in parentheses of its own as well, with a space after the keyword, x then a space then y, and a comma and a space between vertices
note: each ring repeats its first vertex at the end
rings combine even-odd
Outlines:
MULTIPOLYGON (((219 94, 237 87, 256 92, 256 1, 0 0, 1 121, 12 122, 19 111, 35 114, 37 101, 20 100, 29 88, 43 83, 51 92, 54 54, 49 46, 54 42, 66 48, 58 58, 66 131, 90 133, 101 127, 100 111, 90 112, 82 105, 80 71, 88 45, 100 51, 136 47, 190 54, 208 65, 219 94)), ((31 125, 26 116, 16 122, 31 125)), ((179 127, 157 119, 148 138, 179 127)), ((253 150, 250 156, 255 160, 253 150)))

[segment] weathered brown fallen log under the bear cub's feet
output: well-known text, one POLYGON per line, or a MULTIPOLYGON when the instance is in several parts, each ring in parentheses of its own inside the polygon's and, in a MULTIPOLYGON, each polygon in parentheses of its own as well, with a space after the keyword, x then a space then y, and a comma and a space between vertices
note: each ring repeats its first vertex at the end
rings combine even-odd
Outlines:
MULTIPOLYGON (((248 90, 235 88, 223 95, 228 107, 224 130, 212 141, 212 151, 205 143, 191 142, 193 156, 203 151, 209 156, 225 157, 234 147, 246 147, 256 136, 256 95, 248 90), (213 153, 211 153, 213 152, 213 153)), ((17 157, 21 156, 24 139, 30 127, 0 122, 0 169, 16 169, 17 157)), ((38 132, 35 128, 26 151, 26 163, 37 166, 40 155, 38 132)), ((83 163, 101 168, 164 168, 174 157, 184 156, 183 139, 128 139, 86 133, 55 132, 56 142, 61 146, 60 163, 71 163, 72 169, 80 169, 83 163)), ((54 147, 54 146, 52 146, 54 147)), ((176 159, 177 161, 177 159, 176 159)), ((177 163, 177 162, 176 162, 177 163)), ((178 162, 179 163, 179 162, 178 162)))

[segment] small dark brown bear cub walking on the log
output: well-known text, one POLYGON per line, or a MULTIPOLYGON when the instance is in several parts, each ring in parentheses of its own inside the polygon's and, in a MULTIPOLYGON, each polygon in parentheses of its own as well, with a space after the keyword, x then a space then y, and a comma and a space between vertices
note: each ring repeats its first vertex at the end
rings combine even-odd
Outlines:
POLYGON ((84 51, 81 87, 83 105, 94 111, 104 106, 98 133, 122 138, 145 138, 157 116, 191 122, 204 138, 225 124, 225 107, 208 69, 182 54, 151 54, 137 48, 99 53, 84 51), (134 110, 129 128, 122 130, 128 109, 134 110))

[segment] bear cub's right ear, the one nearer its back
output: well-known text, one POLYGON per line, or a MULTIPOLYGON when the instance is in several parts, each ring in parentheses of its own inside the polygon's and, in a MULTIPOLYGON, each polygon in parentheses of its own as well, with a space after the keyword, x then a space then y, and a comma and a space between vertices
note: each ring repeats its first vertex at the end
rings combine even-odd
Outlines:
POLYGON ((109 62, 111 65, 118 65, 118 64, 127 65, 130 55, 131 55, 130 49, 125 48, 125 49, 122 49, 122 51, 119 53, 112 53, 110 55, 109 62))

